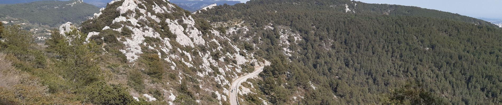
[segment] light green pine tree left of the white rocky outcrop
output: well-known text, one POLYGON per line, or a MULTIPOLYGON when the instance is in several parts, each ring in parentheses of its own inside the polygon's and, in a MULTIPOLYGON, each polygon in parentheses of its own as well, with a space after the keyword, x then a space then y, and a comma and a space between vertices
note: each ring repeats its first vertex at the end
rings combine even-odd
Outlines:
POLYGON ((95 59, 100 49, 95 42, 87 42, 87 36, 76 28, 65 35, 53 31, 51 36, 53 39, 47 41, 47 49, 57 54, 57 58, 61 60, 57 65, 65 71, 68 80, 76 85, 86 85, 99 80, 100 70, 95 59))

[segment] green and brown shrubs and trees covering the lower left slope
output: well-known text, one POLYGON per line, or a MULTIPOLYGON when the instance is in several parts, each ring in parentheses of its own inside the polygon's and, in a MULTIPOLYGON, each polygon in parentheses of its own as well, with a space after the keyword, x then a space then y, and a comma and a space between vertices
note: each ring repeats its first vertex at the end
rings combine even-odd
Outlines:
POLYGON ((7 56, 0 54, 0 104, 152 104, 137 102, 120 85, 108 85, 97 63, 99 47, 76 28, 64 35, 53 30, 45 51, 19 26, 7 26, 4 32, 0 52, 7 56))

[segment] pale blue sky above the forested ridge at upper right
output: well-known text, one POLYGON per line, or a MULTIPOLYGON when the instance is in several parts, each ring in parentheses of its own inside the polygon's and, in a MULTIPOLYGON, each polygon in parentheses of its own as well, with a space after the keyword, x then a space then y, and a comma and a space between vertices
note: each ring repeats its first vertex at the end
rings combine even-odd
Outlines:
MULTIPOLYGON (((249 0, 238 0, 246 2, 249 0)), ((502 0, 356 0, 366 3, 387 3, 418 6, 470 17, 502 19, 502 0)))

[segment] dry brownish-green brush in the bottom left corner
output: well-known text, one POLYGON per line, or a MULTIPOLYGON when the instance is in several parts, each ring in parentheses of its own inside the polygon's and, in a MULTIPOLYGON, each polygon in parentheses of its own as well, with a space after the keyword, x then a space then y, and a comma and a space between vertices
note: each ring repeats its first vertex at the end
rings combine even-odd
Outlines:
POLYGON ((50 94, 47 86, 40 79, 12 66, 12 55, 0 53, 0 104, 2 105, 54 105, 78 104, 62 96, 68 94, 50 94), (9 57, 11 56, 11 57, 9 57))

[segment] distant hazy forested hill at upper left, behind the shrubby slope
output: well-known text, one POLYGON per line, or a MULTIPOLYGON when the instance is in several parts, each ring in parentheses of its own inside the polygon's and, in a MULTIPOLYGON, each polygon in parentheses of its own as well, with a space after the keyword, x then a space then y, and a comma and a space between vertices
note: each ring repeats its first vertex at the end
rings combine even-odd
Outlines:
POLYGON ((30 23, 57 27, 65 22, 81 23, 99 8, 81 0, 45 0, 0 5, 0 17, 14 17, 30 23))

